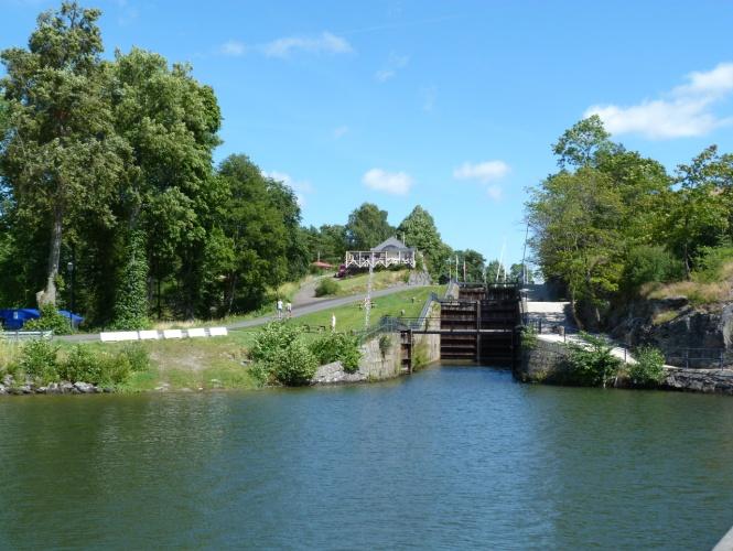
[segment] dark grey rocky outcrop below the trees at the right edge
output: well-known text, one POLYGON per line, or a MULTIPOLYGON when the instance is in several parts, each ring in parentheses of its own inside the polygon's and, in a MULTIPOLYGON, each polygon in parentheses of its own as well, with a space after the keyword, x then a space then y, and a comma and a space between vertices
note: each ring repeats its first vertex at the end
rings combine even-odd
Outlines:
POLYGON ((608 325, 627 346, 651 345, 667 355, 686 348, 733 353, 733 303, 696 309, 685 296, 632 302, 608 325))

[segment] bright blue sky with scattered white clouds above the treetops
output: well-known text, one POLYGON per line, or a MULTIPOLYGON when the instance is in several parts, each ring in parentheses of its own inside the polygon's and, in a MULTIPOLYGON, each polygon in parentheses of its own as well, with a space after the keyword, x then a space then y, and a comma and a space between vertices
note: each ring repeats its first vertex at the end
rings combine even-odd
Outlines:
MULTIPOLYGON (((142 1, 103 10, 106 55, 187 62, 224 116, 216 162, 246 153, 298 194, 305 225, 364 202, 416 205, 445 242, 522 257, 528 190, 551 144, 597 114, 672 172, 733 152, 733 1, 142 1)), ((0 0, 0 48, 43 0, 0 0)))

